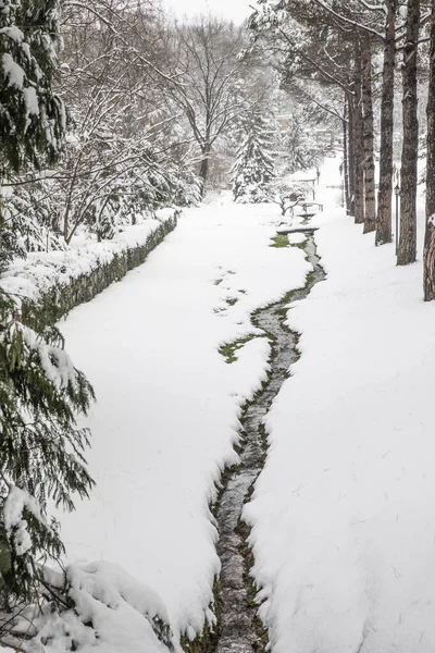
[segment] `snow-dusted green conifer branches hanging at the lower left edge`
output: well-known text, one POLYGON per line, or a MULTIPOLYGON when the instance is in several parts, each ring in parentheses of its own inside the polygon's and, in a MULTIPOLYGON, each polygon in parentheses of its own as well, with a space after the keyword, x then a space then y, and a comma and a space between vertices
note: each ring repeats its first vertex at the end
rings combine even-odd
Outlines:
POLYGON ((72 365, 55 329, 21 323, 15 301, 0 296, 0 572, 1 603, 35 599, 39 564, 63 551, 47 500, 69 510, 71 494, 92 486, 84 466, 86 414, 94 392, 72 365))

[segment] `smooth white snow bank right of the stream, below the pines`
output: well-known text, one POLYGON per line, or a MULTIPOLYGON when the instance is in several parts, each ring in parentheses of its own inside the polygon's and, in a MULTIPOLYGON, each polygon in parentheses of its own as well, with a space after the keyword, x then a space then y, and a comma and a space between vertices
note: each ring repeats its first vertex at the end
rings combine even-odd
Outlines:
POLYGON ((435 306, 421 261, 396 268, 325 197, 327 280, 288 312, 302 356, 244 513, 260 615, 274 653, 432 653, 435 306))

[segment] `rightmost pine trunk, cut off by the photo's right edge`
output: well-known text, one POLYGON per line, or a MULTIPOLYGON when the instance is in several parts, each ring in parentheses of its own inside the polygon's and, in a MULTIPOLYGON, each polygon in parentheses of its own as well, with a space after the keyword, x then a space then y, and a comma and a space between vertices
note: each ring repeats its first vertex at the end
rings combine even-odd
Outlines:
POLYGON ((424 300, 435 299, 435 0, 432 0, 431 67, 427 96, 426 233, 423 256, 424 300))

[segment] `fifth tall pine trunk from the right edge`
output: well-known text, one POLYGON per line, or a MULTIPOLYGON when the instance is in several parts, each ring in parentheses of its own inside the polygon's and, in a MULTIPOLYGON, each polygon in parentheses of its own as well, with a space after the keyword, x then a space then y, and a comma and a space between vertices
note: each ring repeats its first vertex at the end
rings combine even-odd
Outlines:
POLYGON ((355 222, 364 222, 364 138, 362 124, 362 61, 361 40, 356 37, 353 71, 353 167, 355 167, 355 222))

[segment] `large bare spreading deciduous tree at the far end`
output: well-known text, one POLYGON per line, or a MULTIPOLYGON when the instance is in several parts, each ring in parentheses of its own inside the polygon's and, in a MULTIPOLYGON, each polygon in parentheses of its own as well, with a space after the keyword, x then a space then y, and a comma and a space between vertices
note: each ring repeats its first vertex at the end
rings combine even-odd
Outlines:
POLYGON ((202 193, 216 143, 259 100, 254 71, 238 57, 245 38, 241 27, 210 16, 170 25, 166 77, 154 74, 164 96, 183 111, 199 150, 202 193))

